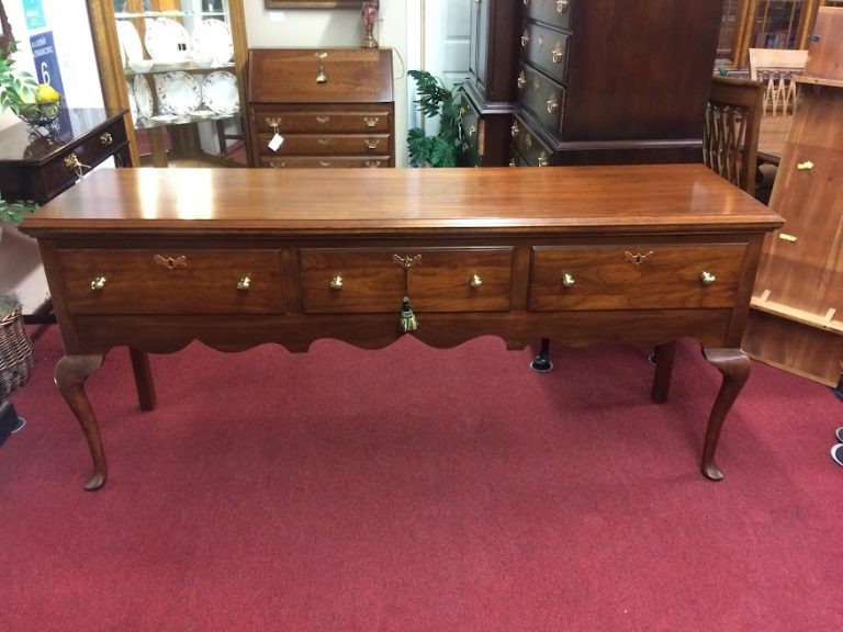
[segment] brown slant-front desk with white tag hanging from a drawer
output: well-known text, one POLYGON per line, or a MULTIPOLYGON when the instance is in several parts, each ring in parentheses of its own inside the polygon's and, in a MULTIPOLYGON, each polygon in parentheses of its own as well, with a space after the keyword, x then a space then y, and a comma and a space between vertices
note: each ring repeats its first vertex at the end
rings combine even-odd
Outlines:
POLYGON ((252 48, 255 167, 394 167, 392 52, 252 48))

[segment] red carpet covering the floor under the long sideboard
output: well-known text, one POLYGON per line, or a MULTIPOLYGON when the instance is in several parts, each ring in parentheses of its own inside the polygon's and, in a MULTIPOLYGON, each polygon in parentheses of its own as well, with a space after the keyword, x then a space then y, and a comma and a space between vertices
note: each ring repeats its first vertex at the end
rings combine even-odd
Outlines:
POLYGON ((88 383, 110 461, 52 384, 55 327, 0 447, 2 631, 814 631, 843 627, 843 469, 829 388, 755 364, 698 472, 719 375, 679 347, 493 338, 128 354, 88 383))

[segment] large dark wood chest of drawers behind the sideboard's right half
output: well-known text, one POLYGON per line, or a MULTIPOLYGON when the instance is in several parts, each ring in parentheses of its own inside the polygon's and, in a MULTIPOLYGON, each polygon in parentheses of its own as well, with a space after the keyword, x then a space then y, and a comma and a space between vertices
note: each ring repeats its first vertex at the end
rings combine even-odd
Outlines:
POLYGON ((698 162, 720 0, 522 0, 514 165, 698 162))

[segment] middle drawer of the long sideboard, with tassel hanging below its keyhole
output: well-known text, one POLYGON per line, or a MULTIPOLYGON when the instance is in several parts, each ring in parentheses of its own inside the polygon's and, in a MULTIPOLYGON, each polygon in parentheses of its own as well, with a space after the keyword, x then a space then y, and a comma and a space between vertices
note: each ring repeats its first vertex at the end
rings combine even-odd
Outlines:
POLYGON ((506 312, 512 303, 512 248, 322 249, 300 251, 303 309, 311 314, 401 309, 404 267, 416 312, 506 312))

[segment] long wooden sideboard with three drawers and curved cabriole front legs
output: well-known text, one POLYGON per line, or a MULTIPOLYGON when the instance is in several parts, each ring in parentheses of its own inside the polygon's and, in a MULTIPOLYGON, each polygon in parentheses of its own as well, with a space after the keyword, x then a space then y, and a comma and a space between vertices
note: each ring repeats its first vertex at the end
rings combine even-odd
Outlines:
POLYGON ((750 370, 740 347, 762 240, 780 224, 699 165, 115 169, 21 230, 40 242, 65 342, 56 383, 97 489, 105 458, 83 384, 112 347, 132 349, 149 409, 145 352, 192 340, 381 348, 404 335, 652 345, 655 402, 676 338, 696 338, 723 375, 702 447, 702 472, 719 479, 718 437, 750 370))

